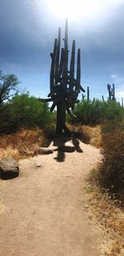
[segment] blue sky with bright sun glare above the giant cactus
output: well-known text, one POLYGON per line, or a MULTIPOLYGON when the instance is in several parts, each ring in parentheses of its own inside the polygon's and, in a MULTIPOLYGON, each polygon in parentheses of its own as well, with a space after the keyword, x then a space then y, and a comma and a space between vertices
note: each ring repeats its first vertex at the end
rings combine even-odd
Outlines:
MULTIPOLYGON (((0 0, 0 70, 15 74, 21 91, 47 98, 50 52, 58 27, 81 49, 81 85, 107 99, 107 84, 124 97, 124 0, 0 0)), ((61 42, 63 46, 63 41, 61 42)), ((80 94, 79 99, 82 99, 80 94)))

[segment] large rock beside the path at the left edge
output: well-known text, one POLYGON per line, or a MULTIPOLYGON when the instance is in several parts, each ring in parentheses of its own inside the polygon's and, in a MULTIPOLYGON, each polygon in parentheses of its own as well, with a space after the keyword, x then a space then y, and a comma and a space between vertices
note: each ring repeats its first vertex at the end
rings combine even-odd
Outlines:
POLYGON ((0 161, 0 177, 2 180, 12 179, 19 175, 19 165, 12 157, 2 158, 0 161))

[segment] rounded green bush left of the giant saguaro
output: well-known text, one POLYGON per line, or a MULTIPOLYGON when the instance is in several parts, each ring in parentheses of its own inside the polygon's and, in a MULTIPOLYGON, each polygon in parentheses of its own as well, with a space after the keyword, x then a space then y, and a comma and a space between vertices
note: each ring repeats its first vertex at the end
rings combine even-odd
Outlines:
POLYGON ((29 94, 16 94, 2 106, 0 131, 10 133, 20 128, 45 129, 49 126, 51 118, 48 104, 41 103, 29 94))

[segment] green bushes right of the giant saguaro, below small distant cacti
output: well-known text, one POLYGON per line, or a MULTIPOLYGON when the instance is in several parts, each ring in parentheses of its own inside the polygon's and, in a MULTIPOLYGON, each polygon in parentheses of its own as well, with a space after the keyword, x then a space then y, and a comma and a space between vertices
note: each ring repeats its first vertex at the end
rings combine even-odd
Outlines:
POLYGON ((96 125, 107 120, 122 121, 124 109, 114 100, 103 102, 101 100, 82 100, 76 105, 74 114, 77 118, 71 118, 71 123, 96 125))

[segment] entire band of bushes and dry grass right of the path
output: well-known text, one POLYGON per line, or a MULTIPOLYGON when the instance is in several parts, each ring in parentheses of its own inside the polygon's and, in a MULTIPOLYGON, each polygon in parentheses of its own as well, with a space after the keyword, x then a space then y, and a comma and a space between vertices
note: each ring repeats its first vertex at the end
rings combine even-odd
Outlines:
POLYGON ((87 134, 87 142, 103 155, 85 187, 88 207, 110 234, 106 255, 124 254, 124 109, 116 100, 83 99, 75 108, 74 127, 87 134), (85 124, 85 125, 83 125, 85 124))

